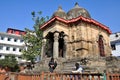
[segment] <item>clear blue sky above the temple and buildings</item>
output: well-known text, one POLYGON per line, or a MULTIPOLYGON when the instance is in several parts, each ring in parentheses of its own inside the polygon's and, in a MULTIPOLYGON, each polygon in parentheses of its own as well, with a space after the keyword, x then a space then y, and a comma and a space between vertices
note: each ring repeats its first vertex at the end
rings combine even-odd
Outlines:
POLYGON ((76 2, 112 33, 120 32, 120 0, 0 0, 0 32, 7 28, 33 29, 32 11, 42 11, 41 16, 50 17, 58 6, 68 12, 76 2))

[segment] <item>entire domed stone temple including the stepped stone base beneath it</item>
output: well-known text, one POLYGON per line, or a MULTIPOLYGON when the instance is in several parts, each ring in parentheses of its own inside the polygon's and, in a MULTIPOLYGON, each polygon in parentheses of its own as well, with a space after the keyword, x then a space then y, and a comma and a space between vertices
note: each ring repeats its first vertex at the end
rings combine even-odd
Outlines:
POLYGON ((71 71, 75 62, 80 62, 86 71, 106 70, 111 31, 78 3, 67 13, 58 7, 40 29, 44 39, 38 69, 48 68, 48 60, 54 57, 59 64, 56 71, 71 71))

